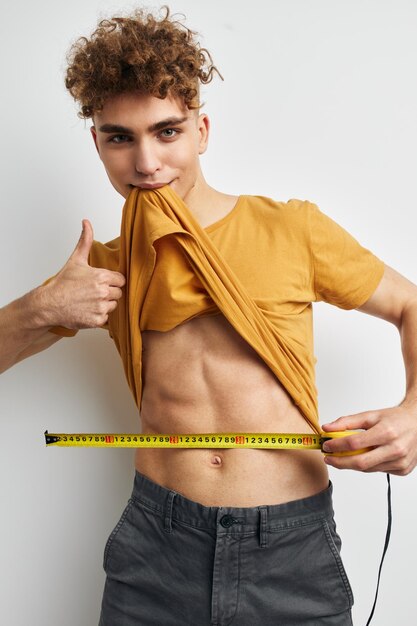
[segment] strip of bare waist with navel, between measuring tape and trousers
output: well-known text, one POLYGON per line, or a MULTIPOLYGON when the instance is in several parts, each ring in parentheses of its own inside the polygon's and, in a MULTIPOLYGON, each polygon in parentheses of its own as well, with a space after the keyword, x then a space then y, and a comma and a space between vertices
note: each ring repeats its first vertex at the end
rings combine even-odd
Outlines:
POLYGON ((205 506, 257 506, 307 497, 328 484, 320 451, 138 449, 136 470, 205 506))

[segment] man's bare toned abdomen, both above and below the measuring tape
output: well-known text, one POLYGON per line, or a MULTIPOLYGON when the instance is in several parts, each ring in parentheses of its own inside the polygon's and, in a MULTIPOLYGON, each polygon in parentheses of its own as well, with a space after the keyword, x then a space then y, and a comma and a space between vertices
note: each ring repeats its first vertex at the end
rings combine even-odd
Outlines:
MULTIPOLYGON (((312 432, 264 361, 218 314, 144 331, 142 432, 312 432)), ((320 451, 138 449, 136 469, 205 506, 258 506, 328 485, 320 451)))

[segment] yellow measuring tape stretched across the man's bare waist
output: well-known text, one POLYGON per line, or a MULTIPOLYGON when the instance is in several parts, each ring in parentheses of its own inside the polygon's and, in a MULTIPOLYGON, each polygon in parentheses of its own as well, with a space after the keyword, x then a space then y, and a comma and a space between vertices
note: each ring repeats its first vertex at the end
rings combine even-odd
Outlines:
MULTIPOLYGON (((49 433, 47 446, 94 448, 267 448, 274 450, 322 450, 329 439, 360 431, 321 433, 49 433)), ((360 454, 365 450, 338 454, 360 454)))

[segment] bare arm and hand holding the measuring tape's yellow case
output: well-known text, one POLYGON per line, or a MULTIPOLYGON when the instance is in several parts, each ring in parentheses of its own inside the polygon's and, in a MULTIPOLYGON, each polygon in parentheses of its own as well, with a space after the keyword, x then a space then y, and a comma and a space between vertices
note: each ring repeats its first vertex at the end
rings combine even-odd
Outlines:
MULTIPOLYGON (((326 456, 328 465, 339 469, 364 472, 389 472, 399 476, 409 474, 417 465, 417 285, 385 266, 384 276, 360 311, 375 315, 394 324, 400 333, 406 373, 406 394, 400 404, 347 415, 323 429, 356 430, 363 432, 334 439, 324 444, 328 452, 368 452, 354 456, 326 456)), ((389 363, 387 363, 389 368, 389 363)))

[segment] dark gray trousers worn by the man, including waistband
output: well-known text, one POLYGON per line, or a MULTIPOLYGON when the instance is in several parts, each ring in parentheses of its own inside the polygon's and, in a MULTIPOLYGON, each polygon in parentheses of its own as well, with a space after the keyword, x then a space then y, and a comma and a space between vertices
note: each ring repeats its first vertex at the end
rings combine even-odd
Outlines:
POLYGON ((139 472, 104 551, 99 626, 351 626, 332 485, 207 507, 139 472))

